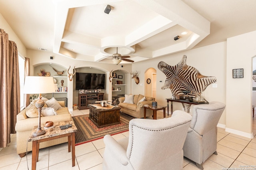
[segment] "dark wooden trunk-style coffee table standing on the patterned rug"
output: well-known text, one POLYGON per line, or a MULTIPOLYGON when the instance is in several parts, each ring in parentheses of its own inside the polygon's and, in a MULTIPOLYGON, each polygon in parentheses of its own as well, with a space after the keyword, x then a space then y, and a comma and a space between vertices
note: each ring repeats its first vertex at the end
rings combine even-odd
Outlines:
POLYGON ((120 109, 108 105, 107 107, 101 107, 100 104, 88 105, 90 107, 89 119, 98 128, 107 127, 111 125, 120 124, 120 109), (101 109, 104 108, 104 109, 101 109))

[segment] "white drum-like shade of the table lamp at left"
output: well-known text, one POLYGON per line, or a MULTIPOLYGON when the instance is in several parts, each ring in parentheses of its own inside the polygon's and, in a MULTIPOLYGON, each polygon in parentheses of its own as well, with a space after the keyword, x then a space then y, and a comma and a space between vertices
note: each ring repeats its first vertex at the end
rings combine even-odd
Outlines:
POLYGON ((53 92, 55 92, 53 77, 26 76, 24 83, 24 94, 53 92))

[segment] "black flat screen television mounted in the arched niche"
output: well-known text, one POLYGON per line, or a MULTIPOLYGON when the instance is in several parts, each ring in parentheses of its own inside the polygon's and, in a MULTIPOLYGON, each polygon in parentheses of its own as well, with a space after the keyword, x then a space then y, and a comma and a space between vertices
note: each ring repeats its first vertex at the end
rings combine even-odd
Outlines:
POLYGON ((105 74, 76 73, 76 90, 105 89, 105 74))

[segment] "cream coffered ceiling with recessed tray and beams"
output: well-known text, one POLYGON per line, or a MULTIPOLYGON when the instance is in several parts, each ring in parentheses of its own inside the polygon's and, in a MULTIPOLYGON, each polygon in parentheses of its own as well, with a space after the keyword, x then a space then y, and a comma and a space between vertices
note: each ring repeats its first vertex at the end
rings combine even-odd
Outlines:
POLYGON ((113 63, 108 56, 118 47, 118 53, 139 62, 256 30, 254 0, 0 0, 0 4, 0 13, 27 49, 47 49, 84 61, 113 63), (107 4, 112 8, 109 14, 104 13, 107 4), (175 41, 175 36, 180 39, 175 41))

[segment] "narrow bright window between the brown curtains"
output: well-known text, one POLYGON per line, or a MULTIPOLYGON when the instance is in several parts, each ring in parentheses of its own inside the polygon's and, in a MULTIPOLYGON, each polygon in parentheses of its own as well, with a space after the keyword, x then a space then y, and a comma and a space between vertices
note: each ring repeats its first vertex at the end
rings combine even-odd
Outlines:
POLYGON ((24 108, 24 74, 25 71, 25 60, 19 55, 19 73, 20 73, 20 109, 24 108))

